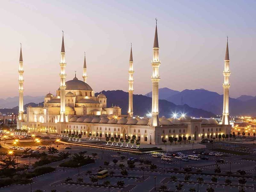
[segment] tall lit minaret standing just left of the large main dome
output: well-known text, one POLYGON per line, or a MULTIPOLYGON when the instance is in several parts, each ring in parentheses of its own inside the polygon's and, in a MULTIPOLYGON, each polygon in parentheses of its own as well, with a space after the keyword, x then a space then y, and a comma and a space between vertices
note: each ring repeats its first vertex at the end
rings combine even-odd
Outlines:
POLYGON ((66 122, 65 114, 65 90, 66 90, 66 61, 65 61, 65 46, 64 46, 64 31, 62 31, 62 44, 60 52, 60 122, 66 122))

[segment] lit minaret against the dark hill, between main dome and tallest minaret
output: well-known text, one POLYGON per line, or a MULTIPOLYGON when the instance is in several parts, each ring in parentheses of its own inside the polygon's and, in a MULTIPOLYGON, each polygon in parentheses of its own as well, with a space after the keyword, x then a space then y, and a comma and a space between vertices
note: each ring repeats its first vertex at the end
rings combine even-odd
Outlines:
POLYGON ((133 117, 133 59, 132 59, 132 43, 131 43, 131 52, 130 52, 130 60, 129 60, 129 89, 128 89, 128 93, 129 93, 129 109, 128 109, 128 114, 130 117, 133 117))

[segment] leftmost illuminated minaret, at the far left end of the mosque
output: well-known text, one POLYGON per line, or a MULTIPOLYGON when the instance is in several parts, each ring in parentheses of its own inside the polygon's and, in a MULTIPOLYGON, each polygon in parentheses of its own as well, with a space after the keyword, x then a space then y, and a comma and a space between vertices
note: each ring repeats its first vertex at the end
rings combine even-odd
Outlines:
POLYGON ((19 61, 19 120, 23 121, 23 73, 24 73, 24 69, 23 69, 23 59, 22 59, 22 51, 21 51, 21 44, 20 44, 20 61, 19 61))

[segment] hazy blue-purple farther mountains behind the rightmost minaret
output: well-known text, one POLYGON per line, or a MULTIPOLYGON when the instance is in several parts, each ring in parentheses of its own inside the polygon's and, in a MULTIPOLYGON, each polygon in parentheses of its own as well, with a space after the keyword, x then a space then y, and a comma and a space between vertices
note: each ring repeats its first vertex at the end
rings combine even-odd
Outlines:
MULTIPOLYGON (((204 109, 217 115, 222 114, 223 95, 220 95, 219 93, 205 89, 185 89, 176 94, 173 94, 173 91, 174 90, 169 88, 161 88, 159 89, 159 97, 160 94, 163 94, 165 100, 176 105, 187 104, 192 108, 204 109), (170 93, 170 95, 166 96, 168 93, 170 93)), ((150 95, 150 93, 151 92, 146 95, 150 95)), ((229 98, 229 113, 231 116, 256 116, 256 97, 242 95, 236 99, 229 98)))

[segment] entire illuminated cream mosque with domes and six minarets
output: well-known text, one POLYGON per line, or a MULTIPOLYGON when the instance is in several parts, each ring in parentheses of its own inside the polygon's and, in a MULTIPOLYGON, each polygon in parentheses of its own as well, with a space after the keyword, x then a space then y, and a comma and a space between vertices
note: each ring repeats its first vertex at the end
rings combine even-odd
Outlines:
POLYGON ((159 45, 157 35, 157 23, 153 45, 153 60, 151 66, 153 73, 151 76, 152 88, 152 111, 151 117, 133 117, 133 57, 132 46, 128 70, 128 92, 129 109, 127 114, 122 114, 119 106, 107 108, 107 97, 100 93, 94 95, 92 87, 86 83, 87 67, 84 55, 83 80, 79 80, 76 75, 72 80, 66 81, 66 60, 64 36, 62 34, 62 45, 60 52, 60 87, 56 91, 56 96, 48 93, 44 98, 44 106, 28 106, 26 114, 23 109, 23 58, 20 47, 19 61, 19 116, 17 128, 28 130, 30 133, 61 134, 62 132, 81 134, 82 138, 90 135, 105 139, 106 137, 126 138, 136 135, 136 139, 141 143, 161 144, 170 137, 191 137, 191 140, 202 140, 204 138, 217 138, 218 134, 230 134, 228 113, 228 92, 230 84, 228 78, 229 55, 228 42, 225 56, 224 75, 224 103, 223 118, 220 124, 215 119, 191 119, 188 116, 176 118, 159 118, 158 116, 158 84, 160 81, 158 57, 159 45))

